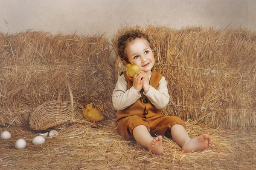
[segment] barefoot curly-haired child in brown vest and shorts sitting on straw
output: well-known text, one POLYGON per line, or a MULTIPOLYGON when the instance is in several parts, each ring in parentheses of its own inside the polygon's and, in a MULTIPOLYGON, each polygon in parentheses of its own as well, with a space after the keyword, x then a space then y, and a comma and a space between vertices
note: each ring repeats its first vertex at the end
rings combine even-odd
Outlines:
POLYGON ((169 103, 167 82, 163 75, 151 71, 154 54, 147 34, 127 31, 117 41, 118 54, 127 65, 138 65, 140 73, 133 78, 121 74, 113 91, 116 108, 116 130, 126 140, 136 140, 156 155, 163 155, 162 135, 169 133, 184 152, 200 151, 211 146, 207 134, 191 139, 183 120, 163 116, 162 108, 169 103), (158 135, 153 138, 151 135, 158 135))

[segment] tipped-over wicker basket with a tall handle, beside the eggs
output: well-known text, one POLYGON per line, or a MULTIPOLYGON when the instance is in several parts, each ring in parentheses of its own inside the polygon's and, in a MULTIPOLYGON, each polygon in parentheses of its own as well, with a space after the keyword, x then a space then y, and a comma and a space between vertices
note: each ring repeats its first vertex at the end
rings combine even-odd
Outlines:
POLYGON ((58 99, 50 102, 45 102, 38 106, 29 117, 29 125, 34 130, 47 130, 56 127, 62 123, 70 122, 86 122, 87 118, 83 115, 83 106, 73 102, 73 94, 70 81, 63 83, 67 84, 70 92, 70 101, 61 101, 61 88, 58 91, 58 99))

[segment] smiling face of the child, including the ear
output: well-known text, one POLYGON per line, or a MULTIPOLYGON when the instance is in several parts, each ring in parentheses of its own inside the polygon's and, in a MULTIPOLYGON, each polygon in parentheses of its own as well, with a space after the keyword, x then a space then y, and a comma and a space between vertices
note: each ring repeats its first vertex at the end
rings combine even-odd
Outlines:
MULTIPOLYGON (((136 38, 127 45, 125 53, 129 63, 138 65, 140 70, 144 71, 147 75, 151 74, 151 69, 154 66, 154 54, 146 39, 136 38)), ((123 61, 125 65, 128 62, 123 61)))

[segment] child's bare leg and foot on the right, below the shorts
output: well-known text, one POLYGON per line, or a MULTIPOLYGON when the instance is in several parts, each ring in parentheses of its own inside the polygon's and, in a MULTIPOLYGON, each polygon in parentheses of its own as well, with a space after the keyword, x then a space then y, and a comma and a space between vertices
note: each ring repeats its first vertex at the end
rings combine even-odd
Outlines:
POLYGON ((182 125, 173 125, 171 128, 172 138, 180 144, 184 152, 200 151, 211 146, 212 139, 209 135, 203 134, 191 139, 182 125))

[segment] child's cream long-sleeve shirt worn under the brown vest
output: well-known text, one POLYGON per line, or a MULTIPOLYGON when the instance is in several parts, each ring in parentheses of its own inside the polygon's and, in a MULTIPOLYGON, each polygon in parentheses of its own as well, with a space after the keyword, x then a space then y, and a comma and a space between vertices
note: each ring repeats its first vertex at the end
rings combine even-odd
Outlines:
MULTIPOLYGON (((151 74, 148 76, 148 83, 150 78, 151 74)), ((167 81, 165 77, 162 77, 157 89, 150 86, 148 92, 143 92, 143 94, 147 96, 149 101, 157 109, 166 107, 166 105, 169 103, 170 96, 168 93, 167 81)), ((118 77, 116 87, 112 95, 113 106, 116 110, 120 111, 127 108, 128 106, 134 104, 138 99, 140 99, 140 97, 141 94, 137 93, 134 87, 131 87, 127 90, 127 82, 125 81, 125 76, 123 74, 118 77)))

